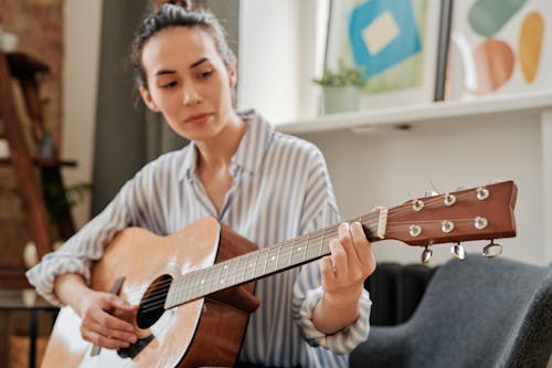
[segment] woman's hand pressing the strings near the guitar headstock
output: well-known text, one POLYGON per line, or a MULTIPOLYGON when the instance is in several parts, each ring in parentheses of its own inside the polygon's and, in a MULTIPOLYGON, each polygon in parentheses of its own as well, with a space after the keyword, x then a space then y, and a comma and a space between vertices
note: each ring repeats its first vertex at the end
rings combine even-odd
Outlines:
POLYGON ((372 246, 360 222, 341 223, 338 238, 329 245, 331 254, 320 260, 323 296, 317 305, 318 323, 315 319, 326 334, 336 333, 357 319, 364 280, 375 270, 372 246))

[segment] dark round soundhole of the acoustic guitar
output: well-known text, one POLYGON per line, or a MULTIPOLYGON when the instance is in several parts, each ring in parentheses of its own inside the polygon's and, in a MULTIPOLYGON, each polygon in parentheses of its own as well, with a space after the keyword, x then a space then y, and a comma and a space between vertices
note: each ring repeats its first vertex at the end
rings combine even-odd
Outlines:
POLYGON ((136 317, 138 327, 149 328, 162 316, 171 282, 172 277, 170 275, 162 275, 148 287, 136 317))

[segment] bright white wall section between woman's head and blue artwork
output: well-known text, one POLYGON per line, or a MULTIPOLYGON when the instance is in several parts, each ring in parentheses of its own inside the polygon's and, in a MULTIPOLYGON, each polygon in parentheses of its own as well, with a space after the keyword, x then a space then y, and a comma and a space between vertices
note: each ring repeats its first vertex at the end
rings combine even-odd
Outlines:
POLYGON ((322 65, 317 42, 320 2, 241 1, 240 108, 255 107, 272 122, 315 116, 318 91, 310 81, 322 65))

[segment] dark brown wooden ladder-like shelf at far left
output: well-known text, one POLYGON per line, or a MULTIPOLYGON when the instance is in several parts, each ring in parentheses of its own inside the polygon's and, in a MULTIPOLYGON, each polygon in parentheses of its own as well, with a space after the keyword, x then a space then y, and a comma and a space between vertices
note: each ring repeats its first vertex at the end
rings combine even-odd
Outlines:
MULTIPOLYGON (((62 200, 67 203, 60 169, 62 166, 76 165, 71 160, 59 159, 55 147, 52 157, 36 156, 38 147, 46 134, 39 97, 39 78, 47 74, 49 71, 47 65, 43 62, 24 53, 0 52, 0 122, 10 147, 10 158, 0 159, 0 165, 13 167, 18 191, 24 204, 25 225, 39 256, 43 256, 52 250, 54 240, 53 228, 49 221, 44 188, 45 186, 59 188, 63 194, 62 200), (31 120, 30 127, 25 126, 20 112, 18 112, 13 82, 19 84, 21 88, 24 108, 31 120), (25 134, 25 129, 31 132, 25 134)), ((61 238, 68 238, 75 232, 68 206, 66 206, 61 219, 56 220, 56 227, 61 238)), ((21 246, 23 245, 21 244, 21 246)), ((22 272, 12 271, 11 274, 9 273, 4 271, 0 273, 2 285, 20 284, 18 278, 24 281, 22 272)))

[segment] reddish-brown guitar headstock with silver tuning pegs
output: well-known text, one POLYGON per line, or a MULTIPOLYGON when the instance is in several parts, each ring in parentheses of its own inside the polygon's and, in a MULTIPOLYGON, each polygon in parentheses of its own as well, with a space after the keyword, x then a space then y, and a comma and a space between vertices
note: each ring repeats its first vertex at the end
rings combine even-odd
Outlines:
POLYGON ((513 181, 418 198, 388 210, 385 239, 410 245, 516 236, 513 181))

